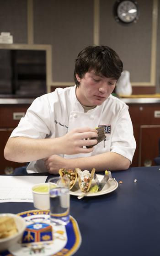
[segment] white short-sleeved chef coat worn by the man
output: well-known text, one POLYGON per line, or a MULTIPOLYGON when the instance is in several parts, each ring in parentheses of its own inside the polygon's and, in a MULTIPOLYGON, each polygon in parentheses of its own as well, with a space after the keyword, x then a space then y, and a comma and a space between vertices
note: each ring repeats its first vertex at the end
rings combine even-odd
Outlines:
MULTIPOLYGON (((28 108, 11 137, 27 137, 45 139, 61 137, 78 127, 95 128, 103 126, 106 140, 97 144, 88 154, 61 155, 64 158, 77 158, 97 155, 104 152, 116 152, 132 162, 136 148, 133 126, 128 106, 110 95, 101 106, 84 112, 84 108, 76 98, 75 86, 38 97, 28 108)), ((46 172, 43 160, 32 161, 27 166, 28 173, 46 172)))

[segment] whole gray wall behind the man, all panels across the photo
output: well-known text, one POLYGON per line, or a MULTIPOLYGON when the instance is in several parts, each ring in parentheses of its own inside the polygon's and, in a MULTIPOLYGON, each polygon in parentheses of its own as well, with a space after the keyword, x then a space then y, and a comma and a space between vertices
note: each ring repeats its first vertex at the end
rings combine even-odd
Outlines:
MULTIPOLYGON (((14 43, 28 43, 28 2, 33 11, 33 43, 52 45, 52 81, 73 84, 74 60, 94 44, 94 0, 0 0, 0 32, 11 32, 14 43)), ((118 24, 112 10, 115 0, 99 0, 99 44, 112 47, 130 71, 134 85, 151 80, 152 11, 154 0, 138 0, 139 21, 118 24)), ((160 9, 160 3, 159 3, 160 9)), ((30 9, 31 11, 31 9, 30 9)), ((160 10, 159 10, 160 14, 160 10)), ((156 91, 160 91, 160 18, 157 30, 156 91)))

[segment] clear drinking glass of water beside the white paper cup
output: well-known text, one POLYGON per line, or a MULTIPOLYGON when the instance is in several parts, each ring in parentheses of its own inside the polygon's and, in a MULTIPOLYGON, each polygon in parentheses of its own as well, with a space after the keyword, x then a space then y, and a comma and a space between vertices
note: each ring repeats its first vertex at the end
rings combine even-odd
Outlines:
POLYGON ((69 179, 53 177, 48 183, 50 220, 53 225, 67 225, 70 211, 69 179))

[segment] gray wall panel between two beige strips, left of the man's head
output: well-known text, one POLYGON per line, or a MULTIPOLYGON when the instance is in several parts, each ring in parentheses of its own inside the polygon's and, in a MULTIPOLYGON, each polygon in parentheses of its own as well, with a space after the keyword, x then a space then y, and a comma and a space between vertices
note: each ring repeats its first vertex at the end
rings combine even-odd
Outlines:
POLYGON ((53 45, 53 81, 72 81, 77 53, 93 43, 93 0, 34 0, 34 43, 53 45))

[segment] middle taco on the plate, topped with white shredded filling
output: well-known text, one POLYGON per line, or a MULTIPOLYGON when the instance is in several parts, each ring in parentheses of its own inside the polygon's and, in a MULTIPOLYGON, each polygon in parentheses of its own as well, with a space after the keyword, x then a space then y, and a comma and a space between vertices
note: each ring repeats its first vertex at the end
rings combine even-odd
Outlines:
POLYGON ((80 190, 85 193, 88 192, 96 169, 93 168, 91 173, 87 170, 81 171, 79 168, 75 168, 75 170, 78 173, 80 190))

